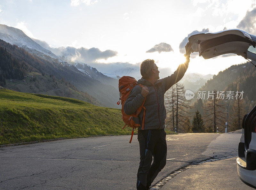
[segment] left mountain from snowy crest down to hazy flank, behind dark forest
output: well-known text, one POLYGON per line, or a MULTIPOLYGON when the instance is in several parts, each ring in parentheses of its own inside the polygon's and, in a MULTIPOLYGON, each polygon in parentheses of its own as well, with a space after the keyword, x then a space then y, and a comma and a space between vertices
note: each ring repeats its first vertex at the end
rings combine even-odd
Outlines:
MULTIPOLYGON (((0 39, 2 44, 9 48, 11 53, 13 53, 13 50, 10 46, 17 45, 31 53, 31 56, 44 58, 45 64, 42 65, 33 65, 33 61, 29 62, 32 64, 29 66, 35 71, 41 72, 42 74, 44 73, 45 75, 53 75, 58 79, 64 78, 64 80, 74 85, 78 90, 88 93, 90 97, 95 98, 96 102, 98 101, 101 105, 119 108, 116 104, 116 100, 119 99, 118 80, 103 75, 101 72, 98 72, 96 68, 90 66, 86 69, 77 68, 74 65, 64 62, 50 50, 43 48, 29 38, 20 29, 0 25, 0 39), (108 94, 109 97, 103 96, 103 94, 108 94)), ((17 52, 23 53, 20 49, 18 49, 17 52)), ((22 57, 24 55, 15 56, 22 57)))

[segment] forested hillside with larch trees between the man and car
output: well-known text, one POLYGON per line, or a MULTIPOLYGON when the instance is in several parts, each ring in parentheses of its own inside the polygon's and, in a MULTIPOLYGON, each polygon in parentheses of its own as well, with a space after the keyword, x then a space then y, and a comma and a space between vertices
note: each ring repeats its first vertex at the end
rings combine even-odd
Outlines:
POLYGON ((241 129, 244 115, 255 106, 255 81, 256 68, 247 62, 214 75, 191 100, 185 98, 183 85, 174 85, 165 94, 167 128, 176 128, 178 132, 217 132, 218 129, 224 133, 228 122, 228 131, 241 129))

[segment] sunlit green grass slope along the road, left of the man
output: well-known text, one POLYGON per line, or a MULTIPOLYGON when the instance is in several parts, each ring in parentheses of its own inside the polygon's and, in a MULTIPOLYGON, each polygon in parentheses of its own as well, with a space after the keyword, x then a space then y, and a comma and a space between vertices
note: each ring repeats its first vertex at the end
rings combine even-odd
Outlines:
MULTIPOLYGON (((120 109, 99 107, 73 98, 0 89, 0 145, 130 135, 132 129, 122 129, 123 126, 120 109)), ((167 134, 175 132, 167 131, 167 134)))

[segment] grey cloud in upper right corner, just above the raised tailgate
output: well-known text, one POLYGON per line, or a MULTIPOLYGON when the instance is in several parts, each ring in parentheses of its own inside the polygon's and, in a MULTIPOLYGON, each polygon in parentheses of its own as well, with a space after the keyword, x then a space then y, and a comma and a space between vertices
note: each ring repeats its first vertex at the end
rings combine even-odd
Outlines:
POLYGON ((256 23, 256 8, 254 8, 252 11, 247 11, 244 18, 239 22, 239 24, 236 27, 256 35, 255 23, 256 23))

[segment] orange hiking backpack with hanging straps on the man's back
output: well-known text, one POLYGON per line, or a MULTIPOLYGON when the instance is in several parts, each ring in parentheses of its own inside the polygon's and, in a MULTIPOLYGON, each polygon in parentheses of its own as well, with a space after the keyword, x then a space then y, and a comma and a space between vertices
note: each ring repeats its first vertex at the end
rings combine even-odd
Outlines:
MULTIPOLYGON (((144 107, 144 103, 146 98, 144 99, 143 103, 141 104, 141 106, 138 108, 138 110, 136 112, 134 112, 132 115, 127 115, 126 113, 124 113, 124 103, 126 101, 126 99, 128 98, 128 96, 130 95, 132 88, 135 87, 136 85, 139 85, 141 88, 143 88, 144 86, 141 84, 137 84, 137 80, 134 79, 133 77, 129 77, 129 76, 123 76, 119 79, 119 83, 118 83, 118 88, 119 88, 119 92, 120 92, 120 100, 117 102, 117 104, 122 104, 122 119, 125 123, 124 127, 126 125, 128 125, 129 127, 132 127, 132 136, 133 136, 133 132, 134 129, 136 127, 140 127, 140 120, 138 115, 140 114, 141 109, 144 109, 144 114, 143 114, 143 119, 142 119, 142 130, 144 129, 144 121, 145 121, 145 112, 146 112, 146 108, 144 107)), ((123 127, 123 129, 124 129, 123 127)), ((132 142, 132 136, 131 136, 131 140, 130 143, 132 142)))

